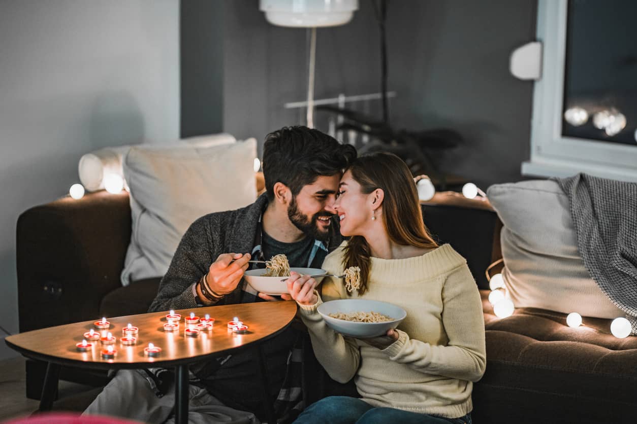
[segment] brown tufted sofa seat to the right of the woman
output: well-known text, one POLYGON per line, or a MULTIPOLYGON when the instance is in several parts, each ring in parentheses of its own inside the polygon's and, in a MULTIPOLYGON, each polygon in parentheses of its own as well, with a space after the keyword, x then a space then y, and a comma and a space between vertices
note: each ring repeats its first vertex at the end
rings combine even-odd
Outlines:
POLYGON ((566 314, 538 308, 497 318, 489 291, 480 294, 487 372, 474 388, 474 422, 634 422, 637 337, 615 338, 601 318, 571 328, 566 314))

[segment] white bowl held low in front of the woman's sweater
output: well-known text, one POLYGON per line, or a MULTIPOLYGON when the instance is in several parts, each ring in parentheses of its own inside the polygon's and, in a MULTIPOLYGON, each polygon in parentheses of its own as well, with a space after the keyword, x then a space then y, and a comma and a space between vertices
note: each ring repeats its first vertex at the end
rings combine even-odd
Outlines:
POLYGON ((382 336, 390 328, 396 328, 407 316, 407 312, 400 306, 387 302, 365 299, 332 300, 320 304, 318 306, 318 313, 320 313, 326 324, 334 331, 340 332, 345 336, 352 336, 356 338, 382 336), (394 320, 385 322, 355 322, 340 320, 329 316, 331 313, 348 313, 357 311, 374 311, 382 313, 387 317, 394 318, 394 320))

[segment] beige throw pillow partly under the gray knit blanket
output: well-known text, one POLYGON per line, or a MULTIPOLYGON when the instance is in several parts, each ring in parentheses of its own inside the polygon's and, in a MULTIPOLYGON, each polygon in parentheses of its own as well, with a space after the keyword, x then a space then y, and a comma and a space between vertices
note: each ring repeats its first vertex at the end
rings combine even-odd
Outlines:
POLYGON ((584 268, 569 200, 557 182, 496 184, 487 197, 504 224, 502 274, 516 307, 624 316, 584 268))

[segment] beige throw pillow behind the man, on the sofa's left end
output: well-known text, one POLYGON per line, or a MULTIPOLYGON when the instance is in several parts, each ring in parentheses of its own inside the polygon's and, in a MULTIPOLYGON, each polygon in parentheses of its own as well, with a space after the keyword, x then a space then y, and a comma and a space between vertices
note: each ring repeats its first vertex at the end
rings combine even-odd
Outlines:
POLYGON ((162 277, 197 218, 254 202, 256 154, 255 139, 211 147, 132 147, 124 158, 132 233, 122 284, 162 277))

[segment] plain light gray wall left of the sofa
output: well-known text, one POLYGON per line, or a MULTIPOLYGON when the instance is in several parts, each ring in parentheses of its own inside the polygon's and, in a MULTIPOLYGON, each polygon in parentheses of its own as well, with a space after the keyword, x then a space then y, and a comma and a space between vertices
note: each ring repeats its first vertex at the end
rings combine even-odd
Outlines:
MULTIPOLYGON (((0 1, 0 322, 17 332, 15 225, 82 154, 179 132, 177 0, 0 1)), ((0 343, 0 359, 13 355, 0 343)))

